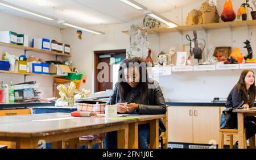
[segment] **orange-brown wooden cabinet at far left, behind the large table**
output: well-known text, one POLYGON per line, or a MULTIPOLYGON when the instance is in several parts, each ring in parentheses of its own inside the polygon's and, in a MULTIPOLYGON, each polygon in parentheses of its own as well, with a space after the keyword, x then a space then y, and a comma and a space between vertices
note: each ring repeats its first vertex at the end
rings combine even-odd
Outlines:
MULTIPOLYGON (((30 115, 30 109, 20 109, 20 110, 0 110, 0 116, 17 116, 17 115, 30 115)), ((14 149, 15 142, 5 142, 0 141, 0 145, 6 145, 7 148, 14 149)))

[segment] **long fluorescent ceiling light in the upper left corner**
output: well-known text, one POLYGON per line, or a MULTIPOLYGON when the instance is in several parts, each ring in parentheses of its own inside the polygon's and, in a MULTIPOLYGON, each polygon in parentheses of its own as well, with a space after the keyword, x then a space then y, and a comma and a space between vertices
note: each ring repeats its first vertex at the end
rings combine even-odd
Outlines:
POLYGON ((26 13, 26 14, 38 16, 38 17, 43 18, 43 19, 54 20, 53 18, 49 18, 48 16, 43 16, 42 14, 36 14, 36 13, 33 12, 33 11, 28 11, 27 9, 22 9, 22 8, 19 7, 19 6, 16 6, 16 5, 13 5, 13 4, 11 4, 11 3, 4 2, 4 1, 0 1, 0 5, 1 5, 1 6, 8 7, 8 8, 10 8, 10 9, 14 9, 14 10, 17 10, 17 11, 24 12, 24 13, 26 13))

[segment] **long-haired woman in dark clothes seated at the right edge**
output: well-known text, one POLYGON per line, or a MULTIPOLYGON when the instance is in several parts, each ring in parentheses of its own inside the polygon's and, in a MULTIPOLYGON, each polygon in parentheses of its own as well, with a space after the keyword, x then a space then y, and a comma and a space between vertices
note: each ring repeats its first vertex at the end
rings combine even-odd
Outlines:
MULTIPOLYGON (((253 107, 255 95, 256 87, 254 72, 252 70, 243 70, 240 79, 238 80, 237 84, 233 87, 232 91, 228 96, 226 108, 237 108, 238 106, 240 106, 242 101, 244 101, 244 104, 242 106, 243 108, 253 107)), ((244 125, 246 128, 246 138, 249 139, 256 133, 256 117, 246 116, 244 119, 244 125)), ((238 145, 237 142, 236 145, 238 145)))

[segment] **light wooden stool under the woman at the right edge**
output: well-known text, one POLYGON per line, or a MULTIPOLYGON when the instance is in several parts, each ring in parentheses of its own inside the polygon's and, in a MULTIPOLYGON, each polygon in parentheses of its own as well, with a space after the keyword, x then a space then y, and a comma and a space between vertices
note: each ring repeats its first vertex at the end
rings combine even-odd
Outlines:
MULTIPOLYGON (((219 129, 218 130, 220 133, 220 136, 218 137, 218 149, 223 149, 224 148, 224 136, 228 135, 230 137, 230 142, 229 142, 229 148, 233 149, 233 136, 238 134, 237 129, 219 129)), ((244 130, 243 134, 245 134, 245 141, 246 141, 246 132, 244 130)), ((255 136, 251 137, 250 140, 250 149, 255 148, 255 136)), ((245 148, 247 145, 245 146, 245 148)))

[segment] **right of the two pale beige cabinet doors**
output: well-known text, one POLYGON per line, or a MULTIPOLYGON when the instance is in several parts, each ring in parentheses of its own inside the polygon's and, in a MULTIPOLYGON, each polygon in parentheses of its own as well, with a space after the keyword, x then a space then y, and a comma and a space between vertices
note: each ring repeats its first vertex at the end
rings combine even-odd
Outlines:
POLYGON ((220 107, 193 107, 194 144, 217 144, 219 128, 220 107))

